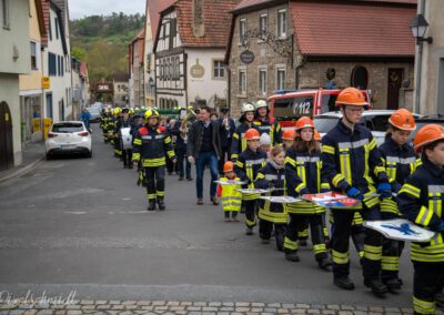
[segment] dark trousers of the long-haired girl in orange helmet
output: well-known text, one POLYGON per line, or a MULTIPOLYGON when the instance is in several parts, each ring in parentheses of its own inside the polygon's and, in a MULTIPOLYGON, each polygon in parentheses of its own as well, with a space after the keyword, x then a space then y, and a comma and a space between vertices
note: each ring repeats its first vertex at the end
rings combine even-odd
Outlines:
POLYGON ((299 233, 303 226, 310 225, 312 235, 313 252, 316 262, 326 258, 326 246, 322 224, 322 214, 295 214, 290 213, 290 221, 286 225, 284 250, 286 253, 297 251, 299 233))

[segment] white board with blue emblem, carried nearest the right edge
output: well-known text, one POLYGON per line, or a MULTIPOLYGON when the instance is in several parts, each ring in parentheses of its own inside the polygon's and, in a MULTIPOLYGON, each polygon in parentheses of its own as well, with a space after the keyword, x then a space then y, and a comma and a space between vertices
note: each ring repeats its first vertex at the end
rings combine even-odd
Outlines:
POLYGON ((405 219, 394 219, 385 221, 366 221, 364 226, 375 230, 385 237, 397 241, 408 242, 430 242, 436 233, 417 226, 405 219))

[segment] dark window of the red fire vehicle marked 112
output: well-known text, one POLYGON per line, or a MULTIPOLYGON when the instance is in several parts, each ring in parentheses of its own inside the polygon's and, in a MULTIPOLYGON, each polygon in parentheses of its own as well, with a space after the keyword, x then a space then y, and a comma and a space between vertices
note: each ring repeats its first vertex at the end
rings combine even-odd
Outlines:
POLYGON ((297 119, 302 115, 312 115, 314 98, 311 95, 300 98, 276 99, 273 105, 273 116, 280 120, 297 119))

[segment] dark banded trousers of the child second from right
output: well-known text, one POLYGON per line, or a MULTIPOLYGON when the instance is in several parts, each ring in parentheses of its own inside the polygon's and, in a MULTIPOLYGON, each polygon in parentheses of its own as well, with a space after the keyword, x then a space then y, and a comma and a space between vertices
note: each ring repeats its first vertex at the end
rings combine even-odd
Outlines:
MULTIPOLYGON (((396 219, 397 216, 392 213, 381 212, 383 220, 396 219)), ((383 281, 398 278, 400 272, 400 257, 404 250, 405 243, 402 241, 383 240, 382 244, 382 273, 381 277, 383 281)))

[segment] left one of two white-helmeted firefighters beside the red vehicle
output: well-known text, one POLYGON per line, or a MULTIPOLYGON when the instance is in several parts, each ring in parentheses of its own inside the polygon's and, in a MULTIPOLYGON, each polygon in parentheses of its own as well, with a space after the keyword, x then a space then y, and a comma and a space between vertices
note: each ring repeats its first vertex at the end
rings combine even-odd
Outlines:
POLYGON ((254 105, 250 103, 243 103, 241 109, 241 118, 239 122, 241 123, 233 133, 233 139, 231 141, 231 161, 235 162, 239 154, 241 154, 246 149, 246 140, 244 138, 245 132, 253 126, 254 120, 254 105))

